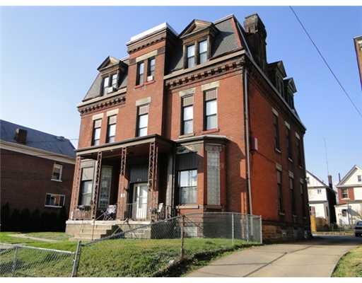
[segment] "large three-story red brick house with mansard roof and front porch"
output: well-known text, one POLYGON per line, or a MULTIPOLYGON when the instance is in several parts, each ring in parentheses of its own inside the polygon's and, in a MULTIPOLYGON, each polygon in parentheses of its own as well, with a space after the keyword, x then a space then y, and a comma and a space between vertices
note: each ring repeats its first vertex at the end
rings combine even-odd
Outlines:
POLYGON ((110 224, 239 212, 262 215, 264 238, 309 234, 305 127, 266 37, 257 14, 180 34, 163 23, 131 37, 128 57, 107 57, 78 104, 67 231, 111 204, 110 224))

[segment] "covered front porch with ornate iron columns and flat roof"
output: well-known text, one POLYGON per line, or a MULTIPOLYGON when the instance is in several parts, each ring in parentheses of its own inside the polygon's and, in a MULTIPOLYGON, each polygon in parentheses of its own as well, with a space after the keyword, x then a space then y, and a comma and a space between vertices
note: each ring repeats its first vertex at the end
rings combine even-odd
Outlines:
POLYGON ((173 141, 157 134, 78 150, 69 221, 149 222, 171 216, 172 204, 165 199, 172 156, 173 141))

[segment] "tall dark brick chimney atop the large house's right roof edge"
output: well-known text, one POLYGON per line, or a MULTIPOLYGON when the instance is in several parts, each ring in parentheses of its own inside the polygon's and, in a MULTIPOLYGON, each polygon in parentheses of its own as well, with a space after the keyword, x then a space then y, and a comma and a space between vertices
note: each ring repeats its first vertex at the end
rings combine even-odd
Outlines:
POLYGON ((266 71, 267 67, 267 30, 257 13, 245 17, 244 30, 247 33, 247 43, 259 67, 266 71))

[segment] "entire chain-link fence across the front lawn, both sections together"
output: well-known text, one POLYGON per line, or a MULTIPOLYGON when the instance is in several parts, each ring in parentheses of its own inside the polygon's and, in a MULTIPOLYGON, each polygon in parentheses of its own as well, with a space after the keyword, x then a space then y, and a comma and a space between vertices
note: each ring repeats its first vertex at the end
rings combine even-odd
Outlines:
POLYGON ((12 246, 0 252, 5 277, 154 277, 197 255, 262 243, 261 217, 226 212, 187 214, 135 225, 75 252, 12 246))

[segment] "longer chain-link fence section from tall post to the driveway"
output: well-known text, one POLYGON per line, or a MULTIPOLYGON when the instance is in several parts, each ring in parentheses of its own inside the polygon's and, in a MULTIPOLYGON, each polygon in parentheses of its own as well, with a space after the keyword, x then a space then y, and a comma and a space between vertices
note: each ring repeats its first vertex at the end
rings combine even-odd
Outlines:
POLYGON ((262 243, 260 216, 237 213, 187 214, 128 228, 82 243, 77 276, 160 276, 195 255, 262 243), (96 265, 93 258, 98 258, 96 265))

